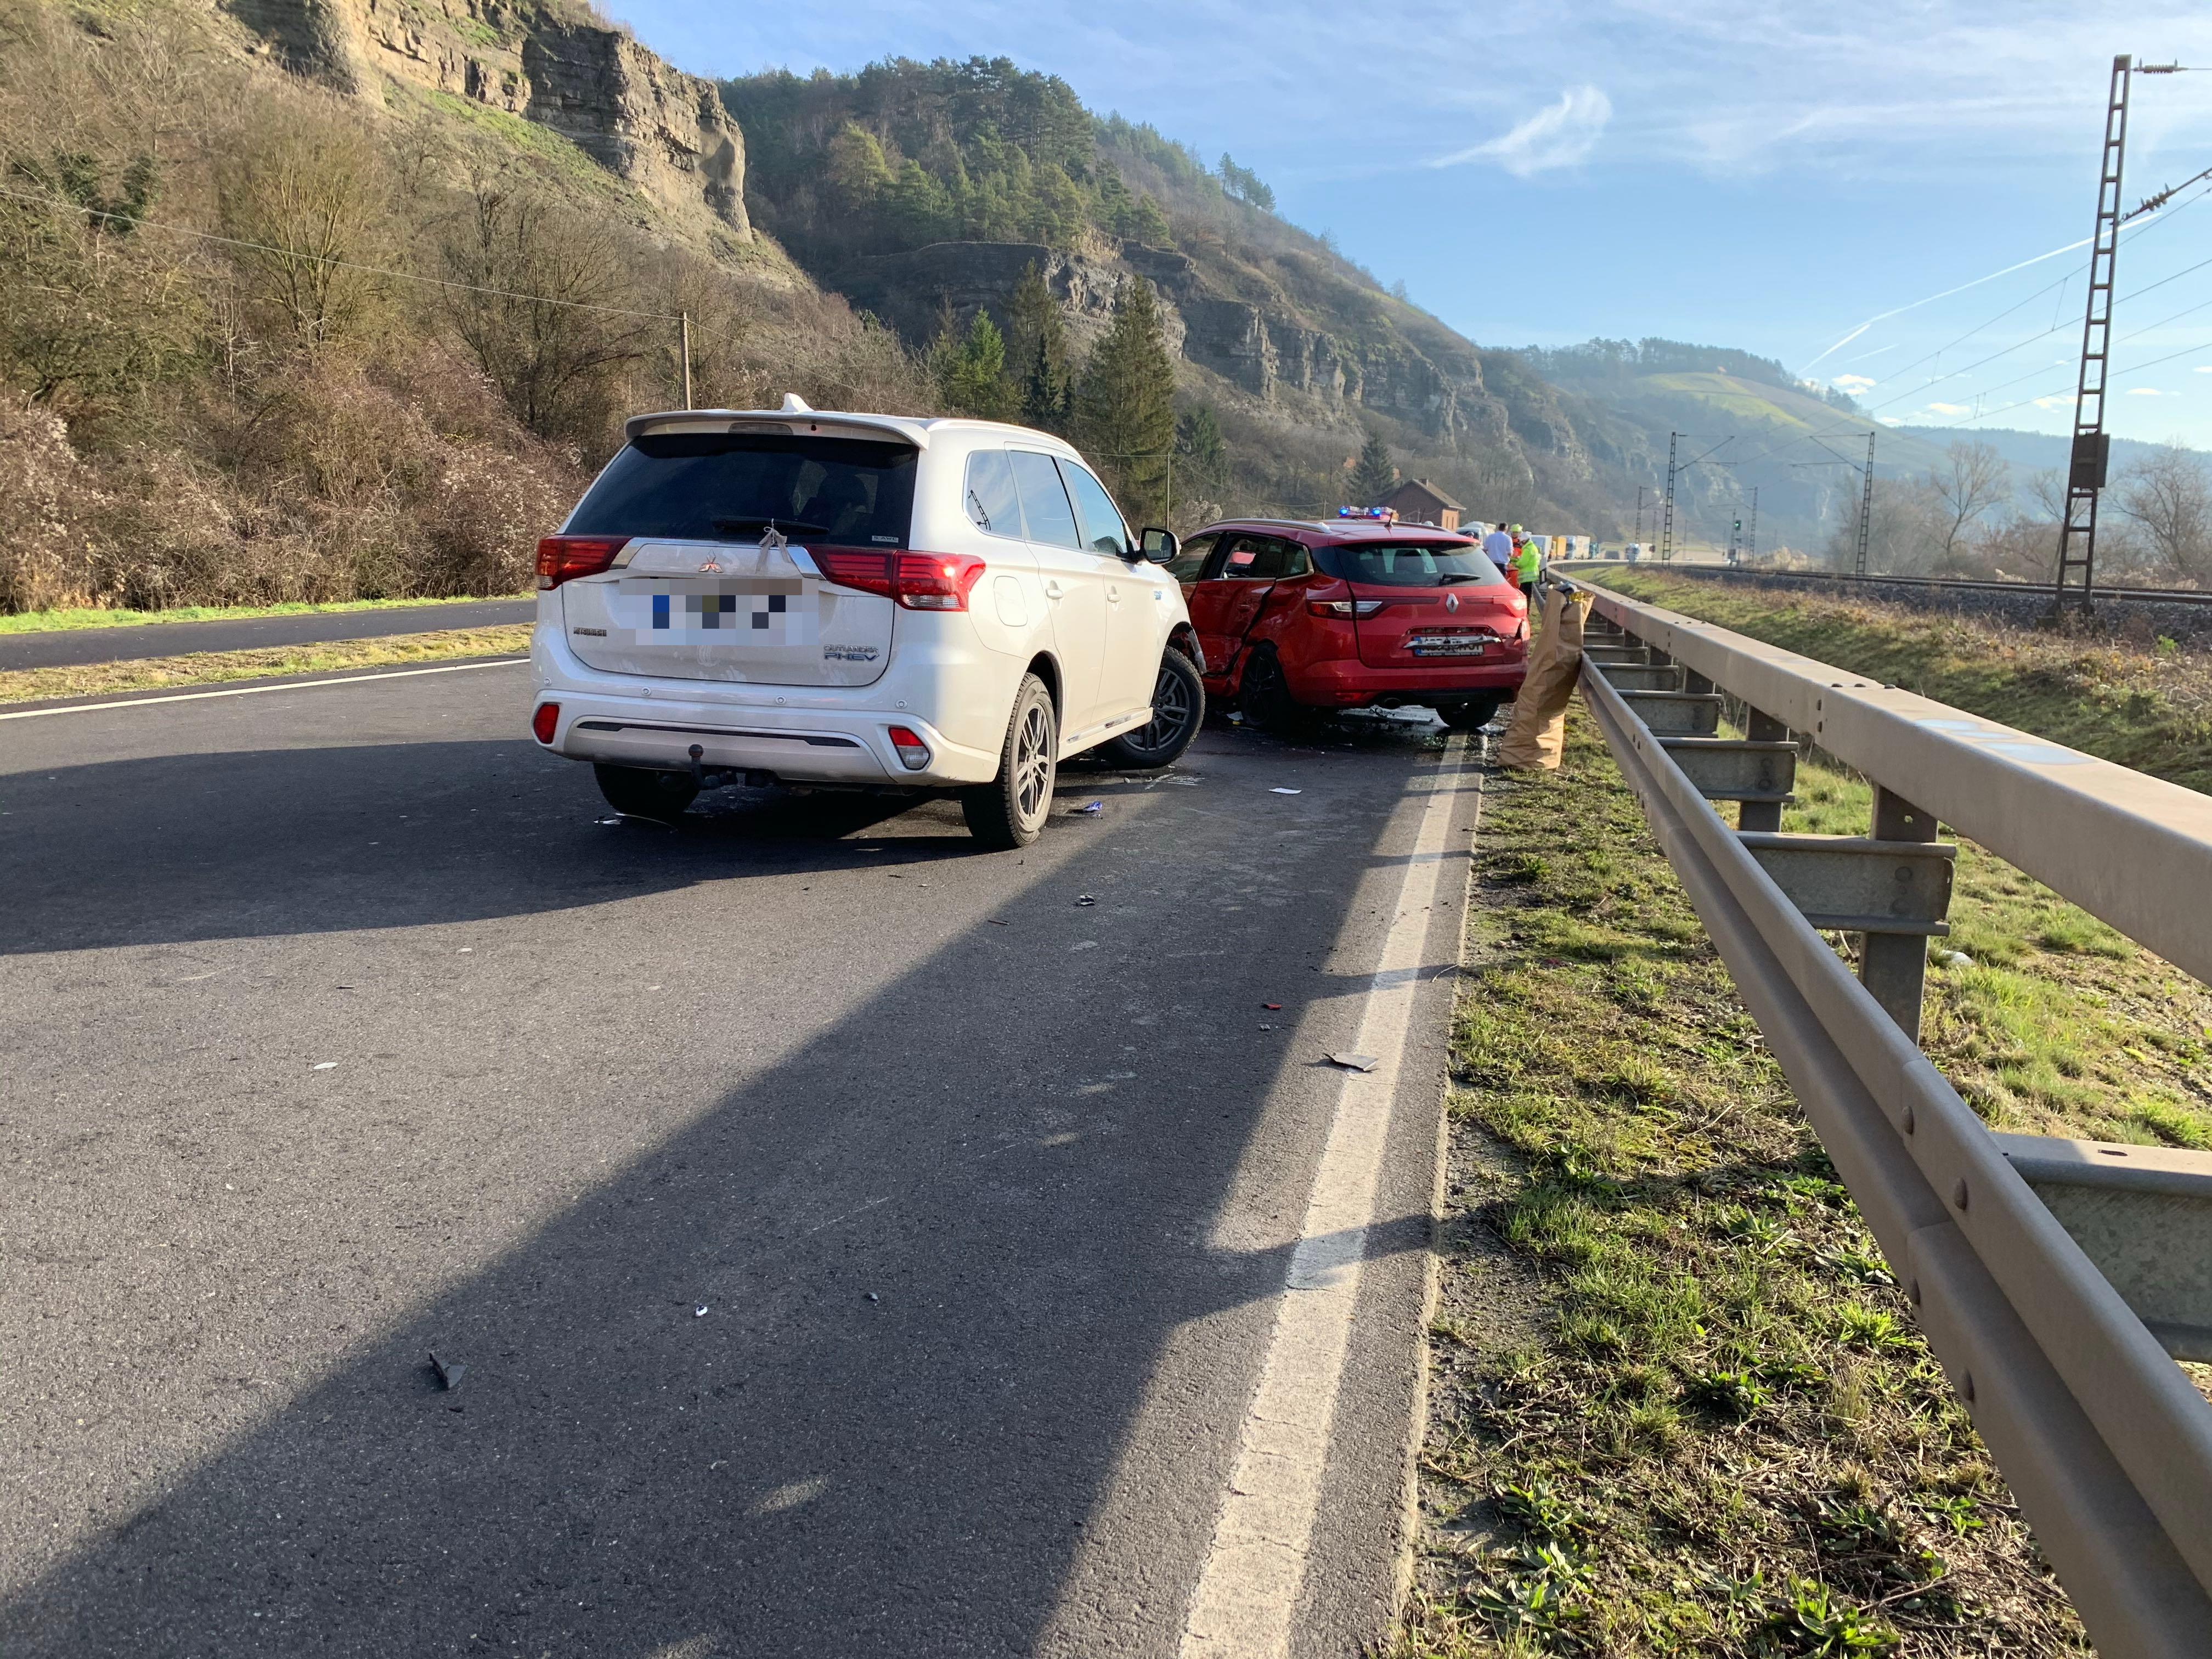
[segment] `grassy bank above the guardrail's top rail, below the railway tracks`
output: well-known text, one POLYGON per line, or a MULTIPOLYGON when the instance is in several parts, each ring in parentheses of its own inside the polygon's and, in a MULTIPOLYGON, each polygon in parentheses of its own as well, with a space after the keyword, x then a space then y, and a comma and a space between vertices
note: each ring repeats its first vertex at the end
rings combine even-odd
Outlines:
POLYGON ((1630 599, 1717 622, 2084 754, 2212 792, 2212 661, 2205 657, 1816 593, 1723 588, 1659 571, 1604 571, 1590 580, 1630 599))

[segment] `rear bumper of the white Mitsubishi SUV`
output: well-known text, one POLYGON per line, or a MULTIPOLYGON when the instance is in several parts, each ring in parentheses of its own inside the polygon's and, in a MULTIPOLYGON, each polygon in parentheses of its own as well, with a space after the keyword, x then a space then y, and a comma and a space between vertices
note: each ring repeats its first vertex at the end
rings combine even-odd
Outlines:
MULTIPOLYGON (((560 703, 546 745, 571 761, 684 772, 772 772, 790 783, 945 787, 989 783, 998 750, 962 748, 927 714, 898 668, 874 686, 706 686, 697 679, 641 679, 586 668, 557 626, 531 637, 538 703, 560 703), (905 726, 929 745, 929 765, 907 770, 891 748, 905 726)), ((1009 692, 1011 708, 1011 692, 1009 692)))

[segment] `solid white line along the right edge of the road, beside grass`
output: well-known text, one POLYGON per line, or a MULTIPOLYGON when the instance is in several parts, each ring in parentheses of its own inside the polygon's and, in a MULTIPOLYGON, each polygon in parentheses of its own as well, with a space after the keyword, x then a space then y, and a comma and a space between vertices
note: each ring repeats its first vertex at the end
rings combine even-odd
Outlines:
POLYGON ((1276 1303, 1267 1363, 1245 1411, 1237 1464, 1183 1621, 1183 1659, 1290 1655, 1464 743, 1451 741, 1413 854, 1405 858, 1398 909, 1354 1037, 1354 1048, 1380 1055, 1383 1064, 1345 1073, 1338 1091, 1305 1228, 1276 1303))

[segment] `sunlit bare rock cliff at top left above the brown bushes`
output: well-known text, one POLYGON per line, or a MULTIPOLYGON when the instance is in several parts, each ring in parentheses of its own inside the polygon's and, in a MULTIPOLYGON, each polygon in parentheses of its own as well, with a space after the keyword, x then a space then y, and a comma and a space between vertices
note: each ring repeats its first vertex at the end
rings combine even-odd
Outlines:
POLYGON ((752 241, 745 139, 714 84, 544 0, 221 0, 285 69, 376 97, 385 80, 538 122, 679 219, 752 241))

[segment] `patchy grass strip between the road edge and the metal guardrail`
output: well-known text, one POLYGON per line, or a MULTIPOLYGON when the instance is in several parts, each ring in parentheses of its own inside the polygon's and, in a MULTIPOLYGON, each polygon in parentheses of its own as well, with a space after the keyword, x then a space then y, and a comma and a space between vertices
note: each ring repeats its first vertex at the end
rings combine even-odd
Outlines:
POLYGON ((1389 1652, 2086 1652, 1582 710, 1491 790, 1389 1652))

